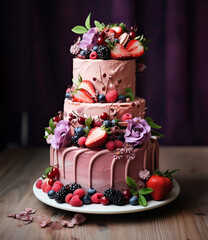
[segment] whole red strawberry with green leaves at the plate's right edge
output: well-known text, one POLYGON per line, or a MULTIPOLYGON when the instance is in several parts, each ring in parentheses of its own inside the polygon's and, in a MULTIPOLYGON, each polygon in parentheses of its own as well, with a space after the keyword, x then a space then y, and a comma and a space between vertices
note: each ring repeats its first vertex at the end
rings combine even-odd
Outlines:
POLYGON ((146 187, 152 188, 153 192, 151 197, 156 200, 163 200, 172 189, 172 175, 175 174, 178 169, 165 173, 155 170, 154 174, 146 182, 146 187))

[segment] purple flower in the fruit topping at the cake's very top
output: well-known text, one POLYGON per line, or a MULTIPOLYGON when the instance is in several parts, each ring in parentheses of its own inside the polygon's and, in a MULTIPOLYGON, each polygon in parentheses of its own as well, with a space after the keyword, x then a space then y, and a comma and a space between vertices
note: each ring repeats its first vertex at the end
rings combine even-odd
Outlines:
POLYGON ((82 40, 79 43, 79 47, 82 50, 91 50, 97 45, 98 32, 97 28, 90 28, 87 33, 84 33, 82 40))

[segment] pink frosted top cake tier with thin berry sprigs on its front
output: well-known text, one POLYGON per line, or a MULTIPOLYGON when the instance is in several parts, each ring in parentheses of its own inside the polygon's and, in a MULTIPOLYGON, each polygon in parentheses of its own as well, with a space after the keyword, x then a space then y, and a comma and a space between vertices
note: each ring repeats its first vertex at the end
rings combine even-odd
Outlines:
MULTIPOLYGON (((91 60, 73 59, 73 78, 79 75, 83 80, 89 80, 98 94, 106 94, 109 90, 117 90, 124 94, 130 87, 135 93, 135 60, 91 60)), ((73 87, 76 87, 73 84, 73 87)))

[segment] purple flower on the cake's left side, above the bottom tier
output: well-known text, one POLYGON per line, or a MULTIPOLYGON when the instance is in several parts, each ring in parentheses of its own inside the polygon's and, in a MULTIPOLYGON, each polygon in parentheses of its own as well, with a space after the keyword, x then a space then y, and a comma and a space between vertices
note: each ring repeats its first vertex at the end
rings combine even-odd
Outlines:
POLYGON ((51 146, 54 149, 68 146, 71 142, 71 128, 68 125, 69 121, 61 120, 57 123, 54 129, 54 135, 51 139, 51 146))

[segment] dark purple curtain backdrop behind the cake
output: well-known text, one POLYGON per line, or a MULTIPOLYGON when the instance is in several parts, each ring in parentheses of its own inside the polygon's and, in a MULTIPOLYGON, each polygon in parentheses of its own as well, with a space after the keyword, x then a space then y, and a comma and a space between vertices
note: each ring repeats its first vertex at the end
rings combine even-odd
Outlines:
MULTIPOLYGON (((136 20, 151 39, 148 66, 137 78, 147 114, 163 126, 162 144, 208 144, 208 1, 1 1, 1 146, 20 143, 29 116, 29 145, 45 144, 43 126, 63 108, 71 83, 70 29, 92 20, 136 20)), ((91 21, 93 23, 93 21, 91 21)))

